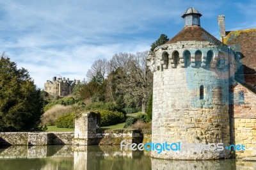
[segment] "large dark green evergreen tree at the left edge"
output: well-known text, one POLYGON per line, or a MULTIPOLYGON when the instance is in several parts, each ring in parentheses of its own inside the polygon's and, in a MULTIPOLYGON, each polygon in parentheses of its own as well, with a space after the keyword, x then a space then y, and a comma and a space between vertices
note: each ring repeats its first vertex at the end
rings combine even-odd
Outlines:
POLYGON ((0 132, 38 130, 43 99, 28 70, 0 58, 0 132))

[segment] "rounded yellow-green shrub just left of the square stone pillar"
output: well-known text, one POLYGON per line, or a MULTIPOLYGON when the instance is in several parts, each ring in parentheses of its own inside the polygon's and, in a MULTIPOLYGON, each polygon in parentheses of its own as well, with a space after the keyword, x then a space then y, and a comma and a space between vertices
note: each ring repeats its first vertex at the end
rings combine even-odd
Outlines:
POLYGON ((75 127, 74 113, 60 116, 56 120, 56 126, 58 128, 74 128, 75 127))

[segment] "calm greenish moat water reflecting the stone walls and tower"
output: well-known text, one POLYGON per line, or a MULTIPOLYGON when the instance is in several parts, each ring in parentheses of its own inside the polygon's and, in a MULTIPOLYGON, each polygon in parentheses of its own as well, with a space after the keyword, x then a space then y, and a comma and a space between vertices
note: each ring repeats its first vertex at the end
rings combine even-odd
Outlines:
POLYGON ((256 162, 241 159, 159 160, 149 154, 119 146, 10 146, 0 148, 0 169, 256 169, 256 162))

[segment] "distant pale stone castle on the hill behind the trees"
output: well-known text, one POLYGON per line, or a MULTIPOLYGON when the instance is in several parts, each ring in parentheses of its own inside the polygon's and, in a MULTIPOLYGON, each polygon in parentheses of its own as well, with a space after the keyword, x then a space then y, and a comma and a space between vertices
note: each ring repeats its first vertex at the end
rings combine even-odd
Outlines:
POLYGON ((70 81, 69 78, 52 77, 52 81, 47 80, 44 84, 44 90, 52 96, 65 97, 72 93, 73 88, 79 83, 79 80, 70 81))

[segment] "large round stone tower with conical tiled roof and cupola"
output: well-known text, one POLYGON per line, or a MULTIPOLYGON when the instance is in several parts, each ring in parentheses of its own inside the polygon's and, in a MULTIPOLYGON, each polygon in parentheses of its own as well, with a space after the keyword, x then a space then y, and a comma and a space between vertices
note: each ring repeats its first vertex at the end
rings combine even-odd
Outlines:
POLYGON ((230 145, 229 84, 236 61, 227 45, 200 27, 201 16, 189 8, 182 15, 184 28, 148 54, 154 73, 152 157, 230 157, 225 146, 230 145))

